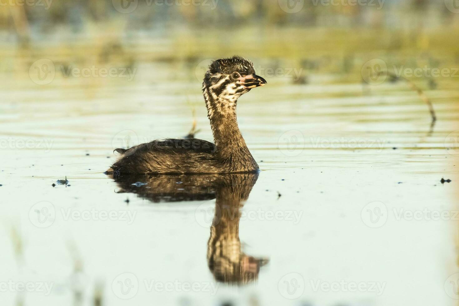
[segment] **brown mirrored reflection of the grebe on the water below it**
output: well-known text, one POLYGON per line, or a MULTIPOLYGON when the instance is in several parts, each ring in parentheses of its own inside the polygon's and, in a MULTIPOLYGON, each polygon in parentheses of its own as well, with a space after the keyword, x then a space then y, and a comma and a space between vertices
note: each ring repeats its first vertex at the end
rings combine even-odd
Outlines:
POLYGON ((241 250, 239 221, 258 173, 154 175, 129 174, 112 177, 118 192, 134 193, 152 202, 215 199, 215 211, 207 243, 207 264, 214 278, 225 284, 256 281, 267 258, 241 250))

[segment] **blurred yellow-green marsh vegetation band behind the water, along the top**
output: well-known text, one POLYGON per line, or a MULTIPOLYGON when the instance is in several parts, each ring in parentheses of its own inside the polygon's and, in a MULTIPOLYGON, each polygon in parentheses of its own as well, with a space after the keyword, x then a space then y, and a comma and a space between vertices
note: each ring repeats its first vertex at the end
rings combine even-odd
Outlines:
POLYGON ((455 0, 20 1, 0 11, 0 72, 27 72, 39 58, 63 66, 180 62, 190 69, 177 77, 186 78, 205 59, 239 54, 273 69, 357 81, 374 58, 413 68, 459 65, 455 0), (301 10, 285 10, 298 3, 301 10))

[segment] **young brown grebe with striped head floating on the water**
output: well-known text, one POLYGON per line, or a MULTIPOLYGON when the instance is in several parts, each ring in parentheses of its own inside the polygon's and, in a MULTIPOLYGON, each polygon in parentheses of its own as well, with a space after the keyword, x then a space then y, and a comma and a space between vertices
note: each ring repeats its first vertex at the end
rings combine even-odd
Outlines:
POLYGON ((116 149, 108 173, 237 173, 258 170, 237 125, 237 99, 266 84, 253 63, 240 56, 213 61, 202 92, 215 144, 201 139, 165 139, 116 149))

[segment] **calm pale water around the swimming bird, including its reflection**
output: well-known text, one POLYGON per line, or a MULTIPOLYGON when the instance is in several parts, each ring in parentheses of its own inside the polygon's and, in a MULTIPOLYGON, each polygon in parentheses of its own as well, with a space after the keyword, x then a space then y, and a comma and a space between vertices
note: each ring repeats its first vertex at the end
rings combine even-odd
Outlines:
POLYGON ((260 173, 113 179, 115 148, 212 139, 201 59, 40 85, 37 58, 1 75, 1 305, 457 305, 457 82, 431 129, 403 82, 259 73, 260 173))

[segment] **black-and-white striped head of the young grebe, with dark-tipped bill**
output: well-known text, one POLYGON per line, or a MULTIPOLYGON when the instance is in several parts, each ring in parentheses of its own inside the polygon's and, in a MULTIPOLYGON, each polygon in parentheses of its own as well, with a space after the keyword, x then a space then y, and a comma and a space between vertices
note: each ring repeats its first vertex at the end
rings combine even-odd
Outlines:
POLYGON ((202 90, 213 100, 235 102, 252 88, 266 84, 255 74, 252 61, 233 56, 213 61, 204 76, 202 90))

